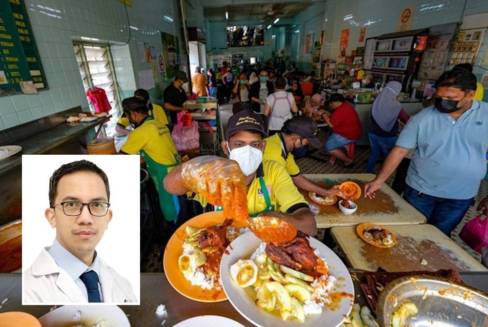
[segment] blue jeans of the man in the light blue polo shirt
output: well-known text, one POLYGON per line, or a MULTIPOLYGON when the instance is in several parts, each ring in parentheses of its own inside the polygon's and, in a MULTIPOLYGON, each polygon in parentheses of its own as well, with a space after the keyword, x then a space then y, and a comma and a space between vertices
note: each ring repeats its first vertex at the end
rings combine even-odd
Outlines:
POLYGON ((405 185, 403 197, 417 210, 427 217, 427 224, 439 228, 448 237, 451 232, 463 220, 474 198, 467 200, 444 199, 421 193, 405 185))

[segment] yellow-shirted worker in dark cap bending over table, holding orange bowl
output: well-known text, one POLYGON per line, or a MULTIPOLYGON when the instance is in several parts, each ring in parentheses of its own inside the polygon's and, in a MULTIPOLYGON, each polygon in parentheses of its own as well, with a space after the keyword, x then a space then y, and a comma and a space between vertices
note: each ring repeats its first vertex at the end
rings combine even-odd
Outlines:
POLYGON ((339 192, 339 186, 325 188, 308 180, 300 172, 291 153, 294 149, 307 144, 317 149, 322 148, 322 143, 316 136, 317 132, 317 123, 308 117, 297 116, 287 120, 279 133, 264 140, 266 147, 263 160, 273 160, 284 166, 297 187, 321 196, 333 196, 339 192))

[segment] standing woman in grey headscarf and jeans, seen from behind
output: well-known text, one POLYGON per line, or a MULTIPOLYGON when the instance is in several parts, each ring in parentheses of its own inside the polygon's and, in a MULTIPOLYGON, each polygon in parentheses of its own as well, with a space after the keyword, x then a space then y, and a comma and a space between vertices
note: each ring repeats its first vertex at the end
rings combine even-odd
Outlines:
POLYGON ((388 82, 373 102, 371 109, 371 125, 368 137, 371 145, 371 154, 366 166, 366 173, 374 173, 374 166, 380 156, 384 158, 396 143, 398 134, 398 120, 407 123, 410 116, 403 110, 402 104, 397 100, 402 84, 397 81, 388 82))

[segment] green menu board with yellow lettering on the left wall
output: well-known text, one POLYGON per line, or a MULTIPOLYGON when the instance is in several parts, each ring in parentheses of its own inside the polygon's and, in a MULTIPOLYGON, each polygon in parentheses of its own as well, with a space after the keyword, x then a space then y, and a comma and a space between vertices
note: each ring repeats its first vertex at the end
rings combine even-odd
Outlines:
POLYGON ((0 96, 21 93, 21 82, 47 88, 24 1, 0 1, 0 96))

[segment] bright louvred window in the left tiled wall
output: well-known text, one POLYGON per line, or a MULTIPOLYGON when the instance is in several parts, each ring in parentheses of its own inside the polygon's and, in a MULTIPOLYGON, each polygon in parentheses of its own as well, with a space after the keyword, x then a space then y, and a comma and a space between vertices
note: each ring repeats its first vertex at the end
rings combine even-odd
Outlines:
MULTIPOLYGON (((112 64, 112 57, 110 56, 109 46, 106 44, 88 44, 88 43, 74 43, 73 49, 76 54, 76 61, 80 69, 81 80, 85 92, 90 87, 100 87, 105 90, 107 99, 110 102, 112 109, 112 119, 107 123, 106 133, 112 135, 115 133, 115 125, 120 108, 120 98, 117 88, 117 83, 112 64)), ((90 111, 95 112, 93 104, 88 101, 90 111)))

